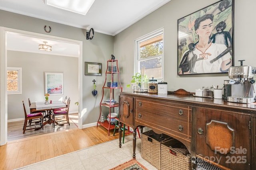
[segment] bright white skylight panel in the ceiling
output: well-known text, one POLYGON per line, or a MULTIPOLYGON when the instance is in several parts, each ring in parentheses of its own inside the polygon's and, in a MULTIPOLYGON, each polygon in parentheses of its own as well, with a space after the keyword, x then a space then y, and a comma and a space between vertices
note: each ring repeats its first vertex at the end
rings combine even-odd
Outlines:
POLYGON ((45 4, 62 10, 86 15, 94 1, 95 0, 45 0, 45 4))

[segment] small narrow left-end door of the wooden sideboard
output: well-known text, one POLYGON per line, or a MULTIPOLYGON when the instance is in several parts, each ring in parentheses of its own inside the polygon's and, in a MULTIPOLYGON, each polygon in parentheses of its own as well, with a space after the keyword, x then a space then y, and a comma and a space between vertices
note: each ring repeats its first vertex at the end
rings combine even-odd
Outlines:
POLYGON ((120 96, 119 100, 119 121, 133 126, 133 98, 120 96))

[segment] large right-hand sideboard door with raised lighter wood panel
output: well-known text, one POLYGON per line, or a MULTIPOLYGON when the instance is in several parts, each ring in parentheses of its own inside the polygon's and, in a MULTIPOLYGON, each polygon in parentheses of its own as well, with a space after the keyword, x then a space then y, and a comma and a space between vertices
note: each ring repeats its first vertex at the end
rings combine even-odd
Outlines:
POLYGON ((232 170, 249 169, 250 115, 196 108, 196 154, 232 170))

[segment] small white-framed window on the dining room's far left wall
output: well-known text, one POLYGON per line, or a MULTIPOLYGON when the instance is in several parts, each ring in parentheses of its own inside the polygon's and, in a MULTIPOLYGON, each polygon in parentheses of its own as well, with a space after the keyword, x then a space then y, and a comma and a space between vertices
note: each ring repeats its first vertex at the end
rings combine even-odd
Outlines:
POLYGON ((20 67, 7 67, 7 94, 22 94, 20 67))

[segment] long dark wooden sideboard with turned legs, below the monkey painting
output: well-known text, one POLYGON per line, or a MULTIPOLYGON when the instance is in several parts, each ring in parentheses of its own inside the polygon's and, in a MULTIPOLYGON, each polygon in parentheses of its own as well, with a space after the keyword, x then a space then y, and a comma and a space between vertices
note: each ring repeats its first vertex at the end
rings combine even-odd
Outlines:
MULTIPOLYGON (((181 141, 192 156, 225 170, 256 169, 256 103, 193 95, 119 93, 119 121, 149 127, 181 141)), ((121 147, 119 129, 119 147, 121 147)), ((133 133, 135 158, 136 131, 133 133)))

